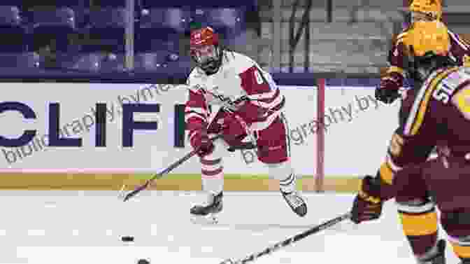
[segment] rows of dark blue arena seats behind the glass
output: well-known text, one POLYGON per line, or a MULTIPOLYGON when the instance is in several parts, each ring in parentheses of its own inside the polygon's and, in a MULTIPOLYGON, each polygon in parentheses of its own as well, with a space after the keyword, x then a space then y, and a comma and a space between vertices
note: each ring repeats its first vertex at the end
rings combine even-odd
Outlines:
MULTIPOLYGON (((189 71, 185 42, 191 23, 211 25, 227 41, 236 39, 245 31, 245 11, 252 10, 255 1, 227 2, 136 0, 134 70, 189 71)), ((1 68, 125 71, 125 0, 38 4, 0 2, 1 68)))

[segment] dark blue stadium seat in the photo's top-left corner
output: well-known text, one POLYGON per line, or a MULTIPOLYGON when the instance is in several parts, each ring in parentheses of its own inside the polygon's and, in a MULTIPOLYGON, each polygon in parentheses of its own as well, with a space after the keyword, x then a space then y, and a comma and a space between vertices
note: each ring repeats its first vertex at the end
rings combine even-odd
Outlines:
POLYGON ((27 50, 27 30, 22 27, 16 6, 0 6, 0 53, 22 53, 27 50))

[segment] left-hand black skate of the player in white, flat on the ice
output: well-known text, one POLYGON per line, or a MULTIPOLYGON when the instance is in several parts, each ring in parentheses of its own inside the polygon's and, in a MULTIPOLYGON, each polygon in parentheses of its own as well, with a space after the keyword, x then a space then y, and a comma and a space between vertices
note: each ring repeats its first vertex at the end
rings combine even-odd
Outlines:
POLYGON ((205 205, 195 205, 191 208, 191 216, 193 222, 218 223, 216 215, 222 211, 223 193, 218 195, 209 195, 208 202, 205 205))

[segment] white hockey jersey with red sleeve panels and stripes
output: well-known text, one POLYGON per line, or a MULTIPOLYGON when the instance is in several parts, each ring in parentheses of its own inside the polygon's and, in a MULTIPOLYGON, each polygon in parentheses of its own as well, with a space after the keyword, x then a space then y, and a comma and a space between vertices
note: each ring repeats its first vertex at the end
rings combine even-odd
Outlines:
POLYGON ((225 50, 222 65, 207 76, 198 67, 187 78, 190 87, 186 102, 187 129, 208 124, 209 106, 218 105, 235 111, 251 130, 263 130, 279 116, 285 104, 271 74, 263 71, 249 57, 225 50))

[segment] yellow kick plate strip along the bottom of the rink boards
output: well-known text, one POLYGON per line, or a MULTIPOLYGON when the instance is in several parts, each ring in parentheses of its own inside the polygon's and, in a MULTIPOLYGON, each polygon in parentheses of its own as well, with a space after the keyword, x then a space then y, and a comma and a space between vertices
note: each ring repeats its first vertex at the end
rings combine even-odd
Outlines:
MULTIPOLYGON (((150 174, 1 174, 0 190, 120 190, 135 188, 149 179, 150 174)), ((359 188, 357 176, 327 176, 323 190, 350 193, 359 188)), ((150 190, 201 190, 200 174, 169 174, 155 181, 150 190)), ((225 190, 278 191, 279 181, 267 175, 225 175, 225 190)), ((304 176, 298 190, 315 190, 313 176, 304 176)))

